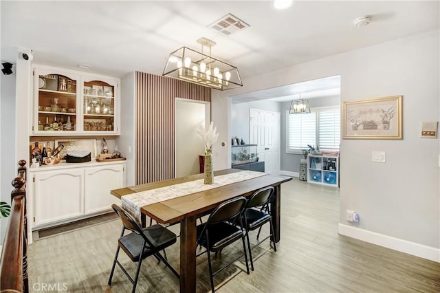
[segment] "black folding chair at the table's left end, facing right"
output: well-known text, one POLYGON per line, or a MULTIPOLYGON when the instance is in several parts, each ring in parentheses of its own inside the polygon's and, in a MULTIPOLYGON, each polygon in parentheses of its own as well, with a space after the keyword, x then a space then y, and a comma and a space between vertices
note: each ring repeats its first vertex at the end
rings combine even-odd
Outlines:
POLYGON ((122 232, 120 238, 118 239, 118 248, 116 249, 115 259, 113 261, 113 266, 111 267, 109 285, 111 285, 115 265, 118 263, 122 272, 124 272, 131 283, 133 283, 133 290, 131 292, 135 292, 142 260, 146 259, 146 257, 150 257, 151 255, 154 255, 158 261, 163 261, 171 272, 173 272, 173 274, 175 274, 175 276, 177 276, 179 279, 179 273, 177 273, 170 263, 168 263, 166 254, 164 254, 163 257, 159 252, 160 250, 164 250, 165 252, 165 248, 176 243, 176 235, 160 225, 152 225, 146 228, 141 228, 135 219, 126 212, 126 210, 115 204, 113 204, 111 207, 113 210, 115 210, 115 213, 122 221, 122 232), (131 233, 124 235, 125 230, 130 230, 131 233), (137 262, 137 270, 134 280, 118 261, 120 248, 124 250, 131 261, 137 262))

